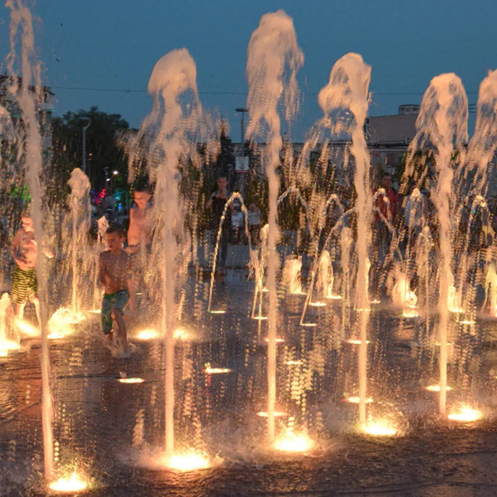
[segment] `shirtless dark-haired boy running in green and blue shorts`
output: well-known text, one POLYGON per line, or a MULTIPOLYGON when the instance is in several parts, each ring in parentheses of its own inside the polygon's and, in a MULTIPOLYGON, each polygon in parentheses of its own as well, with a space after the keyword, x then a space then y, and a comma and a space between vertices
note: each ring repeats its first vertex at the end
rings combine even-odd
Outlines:
POLYGON ((105 233, 109 250, 100 254, 98 273, 100 284, 104 286, 101 319, 104 335, 112 341, 113 322, 121 338, 123 353, 128 352, 126 324, 123 309, 128 303, 134 312, 134 290, 132 264, 129 254, 123 250, 124 229, 119 225, 111 225, 105 233))

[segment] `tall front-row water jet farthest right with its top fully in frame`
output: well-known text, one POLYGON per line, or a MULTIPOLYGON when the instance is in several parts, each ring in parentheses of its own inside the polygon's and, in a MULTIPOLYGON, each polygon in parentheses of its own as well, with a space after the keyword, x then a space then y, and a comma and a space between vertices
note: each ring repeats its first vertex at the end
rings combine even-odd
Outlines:
MULTIPOLYGON (((439 263, 439 340, 440 398, 439 412, 445 417, 447 387, 447 322, 449 287, 453 282, 451 268, 451 215, 454 151, 462 157, 468 140, 468 99, 461 80, 453 73, 436 76, 424 92, 416 135, 410 151, 433 150, 437 183, 432 189, 433 203, 440 223, 439 263)), ((412 157, 412 153, 410 154, 412 157)), ((464 160, 464 158, 463 158, 464 160)))

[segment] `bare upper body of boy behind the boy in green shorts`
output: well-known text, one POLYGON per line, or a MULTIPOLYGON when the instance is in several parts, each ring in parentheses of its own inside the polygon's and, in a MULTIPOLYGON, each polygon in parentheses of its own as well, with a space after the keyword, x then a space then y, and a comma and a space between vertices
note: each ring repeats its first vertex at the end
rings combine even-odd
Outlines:
POLYGON ((129 210, 128 246, 126 252, 134 254, 140 246, 147 246, 152 241, 150 227, 150 208, 148 203, 152 195, 146 186, 137 188, 133 193, 136 207, 129 210))

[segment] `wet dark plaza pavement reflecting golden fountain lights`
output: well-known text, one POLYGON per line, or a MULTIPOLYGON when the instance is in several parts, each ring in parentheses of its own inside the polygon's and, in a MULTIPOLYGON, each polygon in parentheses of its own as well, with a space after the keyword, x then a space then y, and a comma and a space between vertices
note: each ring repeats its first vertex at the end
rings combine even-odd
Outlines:
MULTIPOLYGON (((464 425, 438 421, 438 397, 423 386, 436 381, 436 318, 403 319, 378 306, 371 313, 368 393, 371 415, 393 416, 401 436, 358 434, 357 348, 344 340, 357 329, 340 302, 309 309, 315 328, 299 327, 304 296, 280 289, 278 432, 307 427, 317 447, 306 454, 265 448, 264 321, 251 319, 253 286, 246 271, 228 270, 207 312, 208 280, 190 278, 182 325, 193 339, 175 352, 175 446, 206 450, 218 466, 192 472, 152 470, 140 454, 164 443, 164 364, 160 341, 130 338, 129 359, 103 344, 98 316, 75 334, 50 342, 54 399, 55 470, 77 468, 91 495, 399 495, 497 494, 497 347, 495 323, 477 332, 452 323, 448 404, 466 401, 485 414, 464 425), (349 323, 344 325, 344 322, 349 323), (301 364, 287 365, 293 360, 301 364), (205 364, 227 367, 206 374, 205 364), (122 384, 120 376, 141 384, 122 384)), ((263 309, 264 310, 264 309, 263 309)), ((150 314, 151 312, 145 312, 150 314)), ((28 318, 32 315, 28 315, 28 318)), ((149 315, 150 318, 152 318, 149 315)), ((148 327, 145 324, 143 328, 148 327)), ((134 327, 135 334, 141 327, 134 327)), ((43 495, 40 342, 0 358, 0 494, 43 495)))

